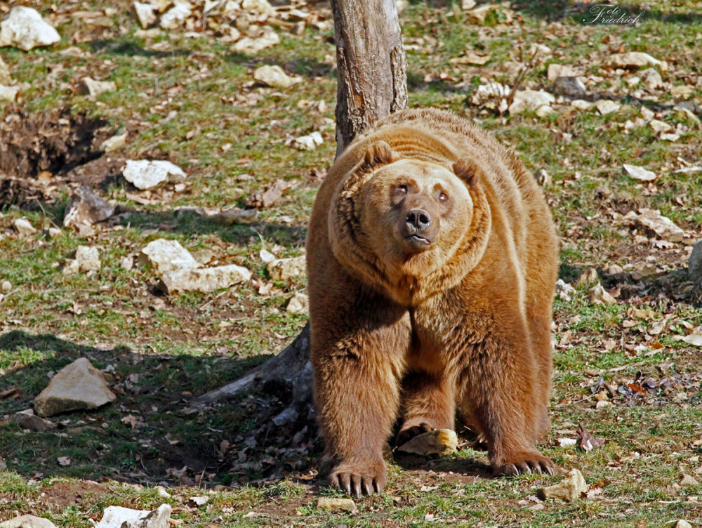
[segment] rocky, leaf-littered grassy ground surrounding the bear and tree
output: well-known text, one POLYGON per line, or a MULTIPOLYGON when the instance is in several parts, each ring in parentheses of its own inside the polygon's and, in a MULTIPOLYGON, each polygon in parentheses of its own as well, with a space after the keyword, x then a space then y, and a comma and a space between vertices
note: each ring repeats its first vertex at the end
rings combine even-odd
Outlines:
POLYGON ((355 502, 317 480, 307 416, 274 423, 291 388, 197 403, 306 319, 305 225, 336 149, 329 4, 21 4, 0 5, 1 520, 702 518, 694 0, 399 3, 410 104, 514 147, 557 220, 542 446, 561 473, 492 479, 459 430, 396 451, 385 493, 355 502))

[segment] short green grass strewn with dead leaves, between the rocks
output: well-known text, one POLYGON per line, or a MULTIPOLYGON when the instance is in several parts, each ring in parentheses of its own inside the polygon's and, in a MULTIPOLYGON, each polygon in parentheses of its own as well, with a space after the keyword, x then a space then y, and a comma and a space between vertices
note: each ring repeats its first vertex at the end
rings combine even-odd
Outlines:
MULTIPOLYGON (((48 0, 29 4, 52 12, 48 0)), ((529 2, 511 12, 497 6, 484 27, 470 24, 460 4, 435 4, 411 2, 401 15, 412 46, 410 105, 444 107, 475 119, 514 147, 531 171, 545 169, 552 178, 545 193, 562 237, 562 278, 573 283, 582 270, 611 264, 625 270, 653 264, 660 272, 684 268, 685 244, 658 249, 649 234, 622 217, 642 207, 660 209, 690 239, 702 237, 699 173, 674 172, 680 159, 691 164, 702 159, 702 127, 676 108, 686 100, 670 89, 625 93, 623 79, 634 72, 611 72, 602 63, 619 51, 649 53, 668 63, 658 68, 663 81, 692 86, 687 103, 700 105, 702 48, 696 43, 702 13, 696 2, 649 2, 650 11, 636 27, 585 26, 580 4, 569 1, 529 2), (508 15, 520 21, 508 25, 508 15), (594 109, 559 105, 541 119, 529 112, 499 115, 470 103, 472 91, 485 81, 513 85, 509 62, 527 60, 536 43, 553 53, 527 61, 522 86, 548 90, 548 65, 571 64, 590 78, 590 95, 618 99, 620 110, 601 116, 594 109), (450 62, 466 50, 489 52, 491 58, 484 66, 450 62), (630 126, 642 107, 678 127, 680 139, 671 143, 649 126, 630 126), (625 163, 645 166, 659 178, 653 185, 637 182, 623 173, 625 163), (603 186, 609 194, 602 193, 603 186)), ((342 494, 315 479, 321 445, 314 431, 305 433, 299 449, 280 442, 274 429, 261 444, 251 444, 257 418, 266 412, 258 392, 206 412, 194 407, 193 397, 264 362, 305 322, 284 310, 293 292, 305 291, 305 277, 274 282, 260 293, 270 278, 259 252, 279 257, 304 252, 319 175, 336 150, 333 31, 279 31, 279 45, 249 58, 209 37, 180 32, 140 37, 127 1, 91 0, 81 9, 108 6, 117 8, 112 29, 103 32, 64 17, 60 44, 28 53, 2 48, 13 78, 28 84, 20 107, 28 114, 69 107, 106 119, 114 131, 128 132, 126 147, 115 157, 167 158, 189 176, 183 192, 138 193, 121 178, 106 180, 100 190, 122 206, 121 213, 91 239, 68 230, 27 239, 13 234, 11 225, 22 216, 39 229, 60 227, 70 194, 65 185, 43 209, 2 209, 0 281, 10 282, 11 289, 1 292, 0 301, 0 393, 11 392, 0 398, 0 456, 7 465, 0 472, 1 519, 34 513, 60 527, 82 528, 107 506, 152 509, 168 503, 173 518, 189 527, 442 522, 597 528, 672 525, 680 518, 699 522, 702 487, 680 481, 682 475, 702 481, 702 362, 697 348, 675 337, 702 324, 702 310, 670 291, 658 293, 652 282, 642 284, 640 295, 623 294, 611 306, 590 304, 592 284, 576 286, 570 301, 556 301, 553 427, 541 446, 560 468, 580 468, 588 484, 601 490, 574 503, 542 505, 533 499, 536 489, 560 477, 492 479, 485 454, 464 449, 434 460, 397 458, 384 494, 357 501, 355 513, 318 510, 317 496, 342 494), (251 73, 264 64, 282 65, 303 83, 288 90, 252 86, 251 73), (118 90, 85 98, 74 88, 86 75, 113 80, 118 90), (173 111, 176 117, 166 119, 173 111), (325 139, 317 150, 286 146, 289 138, 311 131, 325 139), (176 211, 243 206, 246 197, 278 178, 293 187, 250 225, 223 226, 176 211), (244 265, 257 283, 162 296, 150 270, 122 266, 158 237, 176 239, 191 251, 209 249, 220 264, 244 265), (64 275, 65 260, 86 244, 98 246, 102 268, 64 275), (654 316, 637 319, 633 308, 654 316), (661 334, 647 334, 663 319, 661 334), (81 356, 107 369, 124 394, 102 409, 51 418, 58 428, 50 432, 22 430, 13 414, 31 407, 48 374, 81 356), (609 398, 613 405, 596 406, 591 387, 599 377, 619 388, 634 383, 639 373, 656 381, 667 377, 672 388, 628 400, 616 395, 609 398), (558 438, 574 437, 578 424, 604 438, 604 446, 588 453, 559 447, 558 438), (61 466, 59 457, 70 458, 70 464, 61 466), (208 502, 197 506, 193 496, 208 502)), ((0 117, 15 111, 0 107, 0 117)))

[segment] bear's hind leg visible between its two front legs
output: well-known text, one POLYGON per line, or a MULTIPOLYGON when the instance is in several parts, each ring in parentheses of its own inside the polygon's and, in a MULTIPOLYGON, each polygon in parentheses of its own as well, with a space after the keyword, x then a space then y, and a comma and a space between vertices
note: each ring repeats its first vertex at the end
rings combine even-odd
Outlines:
POLYGON ((402 381, 402 426, 395 444, 435 429, 453 429, 456 421, 455 383, 446 376, 413 371, 402 381))

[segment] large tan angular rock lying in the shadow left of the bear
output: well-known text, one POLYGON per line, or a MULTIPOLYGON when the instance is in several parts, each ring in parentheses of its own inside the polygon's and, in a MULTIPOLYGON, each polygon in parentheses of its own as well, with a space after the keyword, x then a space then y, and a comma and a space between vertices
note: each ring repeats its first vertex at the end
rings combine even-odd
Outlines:
POLYGON ((97 409, 117 400, 100 371, 85 357, 58 371, 48 386, 34 398, 39 416, 53 416, 76 409, 97 409))

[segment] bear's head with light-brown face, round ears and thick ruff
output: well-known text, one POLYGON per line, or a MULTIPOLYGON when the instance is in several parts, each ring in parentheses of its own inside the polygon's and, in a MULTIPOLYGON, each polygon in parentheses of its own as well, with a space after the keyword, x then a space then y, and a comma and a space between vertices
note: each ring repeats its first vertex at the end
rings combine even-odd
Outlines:
POLYGON ((335 256, 403 304, 458 284, 486 241, 478 182, 470 160, 430 161, 373 143, 330 211, 335 256))

